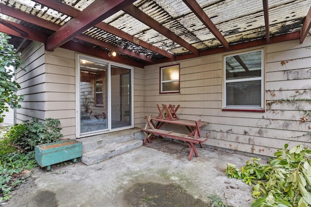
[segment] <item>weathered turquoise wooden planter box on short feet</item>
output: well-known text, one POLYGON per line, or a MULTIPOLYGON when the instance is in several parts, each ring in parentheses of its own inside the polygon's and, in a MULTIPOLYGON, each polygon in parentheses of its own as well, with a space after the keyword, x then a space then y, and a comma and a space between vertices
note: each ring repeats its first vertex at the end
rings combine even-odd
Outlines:
POLYGON ((52 164, 82 157, 82 143, 76 140, 63 140, 35 146, 35 160, 41 167, 51 169, 52 164))

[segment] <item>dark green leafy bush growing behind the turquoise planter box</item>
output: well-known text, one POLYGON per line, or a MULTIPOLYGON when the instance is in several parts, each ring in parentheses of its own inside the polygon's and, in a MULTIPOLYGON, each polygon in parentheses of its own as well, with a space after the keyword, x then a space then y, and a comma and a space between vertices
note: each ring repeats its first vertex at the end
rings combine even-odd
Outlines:
POLYGON ((33 118, 11 127, 6 137, 18 150, 29 152, 38 144, 60 141, 63 135, 60 133, 59 124, 58 119, 47 118, 41 123, 33 118))

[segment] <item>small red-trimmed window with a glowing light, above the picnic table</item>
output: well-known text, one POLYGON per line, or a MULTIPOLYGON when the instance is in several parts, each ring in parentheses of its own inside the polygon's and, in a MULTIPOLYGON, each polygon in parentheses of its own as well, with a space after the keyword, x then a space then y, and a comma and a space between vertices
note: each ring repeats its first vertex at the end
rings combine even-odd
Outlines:
POLYGON ((160 67, 160 94, 179 93, 179 64, 160 67))

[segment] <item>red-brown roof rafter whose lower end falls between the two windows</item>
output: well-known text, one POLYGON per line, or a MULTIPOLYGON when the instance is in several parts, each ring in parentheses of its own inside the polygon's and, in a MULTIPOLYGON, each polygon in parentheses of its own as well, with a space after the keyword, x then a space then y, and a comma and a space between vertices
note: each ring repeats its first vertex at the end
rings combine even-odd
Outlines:
POLYGON ((175 43, 179 44, 180 46, 188 49, 189 51, 191 51, 196 56, 200 55, 200 50, 198 50, 197 48, 194 48, 192 45, 190 45, 184 39, 182 39, 181 37, 179 37, 178 35, 176 35, 172 31, 170 31, 169 29, 164 27, 162 24, 157 22, 155 19, 153 19, 152 17, 146 15, 142 11, 140 11, 133 4, 123 8, 122 10, 124 12, 126 12, 127 14, 133 16, 134 18, 138 19, 140 22, 144 23, 145 25, 147 25, 151 29, 155 30, 156 32, 161 33, 162 35, 164 35, 167 38, 173 40, 175 43))

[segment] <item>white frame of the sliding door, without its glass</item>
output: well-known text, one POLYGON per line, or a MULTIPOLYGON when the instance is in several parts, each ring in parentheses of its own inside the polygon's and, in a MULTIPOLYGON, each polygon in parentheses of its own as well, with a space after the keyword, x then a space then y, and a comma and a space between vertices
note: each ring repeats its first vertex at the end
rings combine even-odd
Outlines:
POLYGON ((83 54, 76 53, 76 138, 82 138, 82 137, 88 137, 92 135, 97 135, 97 134, 104 134, 108 132, 113 132, 113 131, 120 131, 124 129, 129 129, 129 128, 134 128, 134 67, 124 65, 124 64, 118 64, 114 63, 105 59, 99 59, 95 58, 92 56, 87 56, 83 54), (80 113, 80 59, 86 59, 102 64, 107 64, 108 65, 108 70, 107 70, 107 122, 108 122, 108 128, 103 129, 103 130, 98 130, 98 131, 91 131, 91 132, 85 132, 81 133, 81 113, 80 113), (126 69, 130 70, 130 81, 131 81, 131 90, 130 90, 130 101, 131 101, 131 108, 130 108, 130 122, 131 125, 125 126, 125 127, 119 127, 119 128, 111 128, 111 65, 115 66, 120 66, 126 69))

